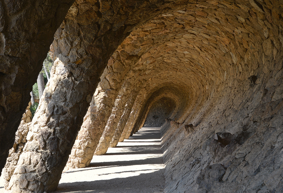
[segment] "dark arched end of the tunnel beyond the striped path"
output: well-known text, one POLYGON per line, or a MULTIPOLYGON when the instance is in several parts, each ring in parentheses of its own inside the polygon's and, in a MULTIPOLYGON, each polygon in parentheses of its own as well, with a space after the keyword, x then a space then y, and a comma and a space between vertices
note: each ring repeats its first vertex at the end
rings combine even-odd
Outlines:
POLYGON ((143 127, 161 127, 166 118, 170 118, 176 104, 168 98, 160 98, 156 101, 148 112, 143 127))

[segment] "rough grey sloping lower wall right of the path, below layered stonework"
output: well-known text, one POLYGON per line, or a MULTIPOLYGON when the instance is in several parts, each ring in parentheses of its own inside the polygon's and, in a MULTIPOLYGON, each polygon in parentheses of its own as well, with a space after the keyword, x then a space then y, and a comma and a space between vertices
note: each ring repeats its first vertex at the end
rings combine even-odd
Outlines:
POLYGON ((274 78, 235 81, 185 123, 163 125, 166 192, 282 191, 281 65, 274 78))

